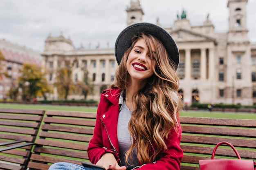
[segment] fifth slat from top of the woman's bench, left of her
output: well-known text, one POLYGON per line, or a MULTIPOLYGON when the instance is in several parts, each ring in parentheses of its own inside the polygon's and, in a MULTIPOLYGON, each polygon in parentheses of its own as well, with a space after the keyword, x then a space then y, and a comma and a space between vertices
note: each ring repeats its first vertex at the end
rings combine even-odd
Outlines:
POLYGON ((53 141, 53 140, 46 140, 46 139, 37 139, 36 144, 45 145, 45 146, 54 146, 59 148, 76 149, 76 150, 87 150, 88 148, 88 144, 75 144, 70 142, 53 141))

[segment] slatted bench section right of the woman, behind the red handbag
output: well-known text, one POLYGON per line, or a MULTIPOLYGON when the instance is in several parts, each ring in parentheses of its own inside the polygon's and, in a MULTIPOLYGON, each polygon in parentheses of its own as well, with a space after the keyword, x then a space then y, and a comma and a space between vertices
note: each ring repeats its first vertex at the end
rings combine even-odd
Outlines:
MULTIPOLYGON (((256 160, 256 120, 180 117, 181 170, 199 170, 199 160, 211 159, 213 147, 220 141, 235 146, 242 159, 256 160)), ((219 147, 216 158, 237 159, 230 147, 219 147)))

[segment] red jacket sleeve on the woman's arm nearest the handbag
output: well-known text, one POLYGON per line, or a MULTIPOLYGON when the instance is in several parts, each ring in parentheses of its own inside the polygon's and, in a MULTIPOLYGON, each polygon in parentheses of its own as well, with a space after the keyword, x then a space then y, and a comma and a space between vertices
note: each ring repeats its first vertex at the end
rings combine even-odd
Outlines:
POLYGON ((171 130, 166 140, 167 150, 163 152, 163 157, 155 163, 147 163, 138 170, 180 170, 180 161, 183 157, 183 150, 180 148, 181 140, 180 123, 176 130, 171 130))

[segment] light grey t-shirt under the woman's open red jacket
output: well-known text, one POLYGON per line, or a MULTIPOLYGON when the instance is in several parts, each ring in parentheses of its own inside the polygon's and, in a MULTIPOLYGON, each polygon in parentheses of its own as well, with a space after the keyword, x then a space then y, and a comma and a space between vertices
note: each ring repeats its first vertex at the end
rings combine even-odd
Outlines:
POLYGON ((125 160, 124 156, 126 154, 126 151, 130 148, 130 132, 128 130, 128 122, 130 121, 132 114, 132 110, 129 110, 126 106, 125 102, 122 102, 119 116, 118 116, 118 122, 117 122, 117 138, 118 138, 118 145, 119 145, 119 152, 120 152, 120 159, 122 162, 122 166, 128 166, 127 170, 130 170, 134 168, 135 166, 138 166, 138 159, 137 159, 137 152, 136 149, 133 151, 132 158, 133 161, 130 160, 129 165, 125 160))

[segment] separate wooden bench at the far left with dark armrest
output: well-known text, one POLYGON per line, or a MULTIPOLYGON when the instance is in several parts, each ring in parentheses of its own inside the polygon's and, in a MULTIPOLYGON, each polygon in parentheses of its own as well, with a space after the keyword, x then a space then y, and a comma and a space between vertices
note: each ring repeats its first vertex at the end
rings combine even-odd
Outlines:
POLYGON ((0 108, 0 169, 26 169, 44 113, 44 110, 0 108))

